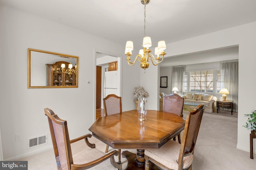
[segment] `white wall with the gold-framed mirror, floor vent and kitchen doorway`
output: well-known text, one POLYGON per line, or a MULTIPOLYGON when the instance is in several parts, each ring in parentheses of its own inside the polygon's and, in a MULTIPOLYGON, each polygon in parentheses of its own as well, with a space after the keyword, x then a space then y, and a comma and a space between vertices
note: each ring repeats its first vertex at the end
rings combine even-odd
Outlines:
MULTIPOLYGON (((88 128, 96 116, 95 49, 124 57, 125 43, 117 44, 4 5, 0 5, 0 37, 3 70, 0 129, 4 160, 52 148, 45 107, 68 121, 70 139, 90 133, 88 128), (78 56, 78 88, 28 89, 28 48, 78 56), (86 80, 91 83, 87 85, 86 80), (22 140, 16 142, 15 134, 22 140), (48 144, 27 150, 27 138, 42 134, 48 134, 48 144)), ((139 72, 138 67, 130 67, 122 60, 124 111, 135 109, 133 90, 139 85, 139 72)))

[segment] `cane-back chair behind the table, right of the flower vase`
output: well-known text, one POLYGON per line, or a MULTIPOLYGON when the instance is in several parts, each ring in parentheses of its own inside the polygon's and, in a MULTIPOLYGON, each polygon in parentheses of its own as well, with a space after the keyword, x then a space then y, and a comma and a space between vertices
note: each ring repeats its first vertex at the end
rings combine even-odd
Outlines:
MULTIPOLYGON (((183 117, 184 98, 180 97, 178 94, 169 94, 168 96, 164 96, 163 99, 163 111, 168 113, 174 113, 180 117, 183 117)), ((178 142, 180 143, 180 134, 178 136, 178 142)), ((176 137, 173 138, 176 141, 176 137)))

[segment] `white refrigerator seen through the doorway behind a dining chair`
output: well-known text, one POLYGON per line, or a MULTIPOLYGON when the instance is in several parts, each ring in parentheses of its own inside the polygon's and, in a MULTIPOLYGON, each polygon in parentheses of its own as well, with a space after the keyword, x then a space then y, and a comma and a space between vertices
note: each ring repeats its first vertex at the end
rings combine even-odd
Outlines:
POLYGON ((108 94, 115 94, 116 96, 119 96, 117 71, 105 72, 103 91, 104 98, 106 98, 108 94))

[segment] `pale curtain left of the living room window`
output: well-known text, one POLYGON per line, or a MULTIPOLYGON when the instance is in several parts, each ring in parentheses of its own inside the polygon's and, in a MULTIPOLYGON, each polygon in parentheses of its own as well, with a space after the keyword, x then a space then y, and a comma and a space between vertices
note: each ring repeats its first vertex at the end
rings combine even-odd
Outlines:
POLYGON ((174 87, 178 88, 178 95, 182 95, 183 94, 183 77, 184 77, 184 70, 185 70, 185 66, 172 66, 172 87, 171 90, 174 87))

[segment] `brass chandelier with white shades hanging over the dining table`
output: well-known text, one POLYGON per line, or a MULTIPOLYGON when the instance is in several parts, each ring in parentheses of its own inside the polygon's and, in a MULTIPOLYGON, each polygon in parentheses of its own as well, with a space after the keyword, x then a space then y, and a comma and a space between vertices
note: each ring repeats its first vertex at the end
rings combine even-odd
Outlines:
POLYGON ((125 46, 125 55, 127 56, 126 60, 128 61, 128 64, 130 66, 133 66, 138 59, 138 61, 140 61, 140 67, 143 68, 144 72, 145 72, 146 68, 148 68, 148 66, 149 66, 148 61, 152 61, 152 64, 154 66, 157 66, 159 63, 161 63, 163 61, 164 55, 166 55, 166 53, 164 52, 164 50, 166 49, 166 44, 165 44, 165 41, 158 42, 158 47, 155 47, 155 55, 157 55, 156 58, 152 54, 150 54, 152 52, 149 49, 149 47, 152 46, 151 38, 145 37, 145 34, 146 34, 146 4, 148 4, 150 2, 150 0, 140 0, 140 2, 144 5, 144 38, 143 38, 143 43, 142 43, 143 49, 140 49, 139 54, 136 56, 134 62, 131 62, 130 56, 132 55, 133 42, 127 41, 126 46, 125 46), (159 56, 162 56, 162 58, 160 58, 159 56))

